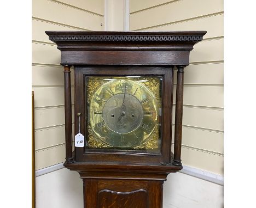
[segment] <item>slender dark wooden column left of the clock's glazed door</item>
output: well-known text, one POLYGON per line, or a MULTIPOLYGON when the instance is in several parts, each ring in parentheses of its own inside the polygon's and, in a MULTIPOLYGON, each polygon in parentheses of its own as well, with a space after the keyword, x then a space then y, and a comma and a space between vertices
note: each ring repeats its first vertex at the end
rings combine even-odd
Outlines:
POLYGON ((73 163, 72 156, 72 105, 71 105, 71 81, 70 65, 64 66, 64 88, 65 88, 65 142, 66 162, 73 163))

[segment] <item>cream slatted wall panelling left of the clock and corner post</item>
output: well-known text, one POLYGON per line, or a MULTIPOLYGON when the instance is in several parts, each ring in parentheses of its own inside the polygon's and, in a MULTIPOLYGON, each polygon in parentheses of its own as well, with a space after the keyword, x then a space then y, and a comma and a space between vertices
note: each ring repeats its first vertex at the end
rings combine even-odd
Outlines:
POLYGON ((63 68, 60 51, 49 41, 46 30, 104 30, 104 0, 32 1, 36 170, 65 160, 63 68))

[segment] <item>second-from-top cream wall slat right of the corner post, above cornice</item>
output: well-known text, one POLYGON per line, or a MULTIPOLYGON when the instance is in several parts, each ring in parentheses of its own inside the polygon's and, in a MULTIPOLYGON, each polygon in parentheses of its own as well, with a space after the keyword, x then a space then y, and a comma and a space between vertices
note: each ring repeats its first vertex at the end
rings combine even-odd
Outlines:
POLYGON ((184 21, 219 13, 223 13, 223 0, 171 1, 169 4, 160 7, 154 7, 131 14, 130 30, 141 30, 171 22, 184 21))

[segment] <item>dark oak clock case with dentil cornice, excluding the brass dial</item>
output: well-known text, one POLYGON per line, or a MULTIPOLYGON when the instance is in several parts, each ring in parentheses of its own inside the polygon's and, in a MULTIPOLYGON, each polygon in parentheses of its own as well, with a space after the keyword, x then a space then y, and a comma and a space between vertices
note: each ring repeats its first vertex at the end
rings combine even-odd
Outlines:
POLYGON ((130 204, 125 207, 162 207, 162 183, 169 173, 182 169, 184 68, 189 65, 190 51, 202 40, 206 31, 46 31, 45 33, 61 51, 65 83, 66 162, 64 166, 76 170, 84 181, 84 207, 108 207, 113 200, 122 206, 122 201, 128 198, 130 204), (78 133, 76 116, 78 113, 82 113, 81 130, 85 129, 84 76, 163 76, 162 154, 160 156, 143 155, 141 152, 86 154, 84 148, 75 148, 72 151, 71 66, 74 66, 75 77, 74 134, 78 133), (173 154, 171 118, 172 103, 175 102, 172 99, 175 70, 177 70, 177 87, 173 154))

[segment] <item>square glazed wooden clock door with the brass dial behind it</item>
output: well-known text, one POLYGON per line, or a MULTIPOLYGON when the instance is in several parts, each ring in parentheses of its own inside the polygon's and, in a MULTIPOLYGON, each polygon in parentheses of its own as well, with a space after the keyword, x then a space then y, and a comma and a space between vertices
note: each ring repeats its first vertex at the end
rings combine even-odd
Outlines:
POLYGON ((76 160, 169 162, 170 137, 162 135, 171 135, 172 75, 171 67, 76 67, 75 114, 86 140, 76 160))

